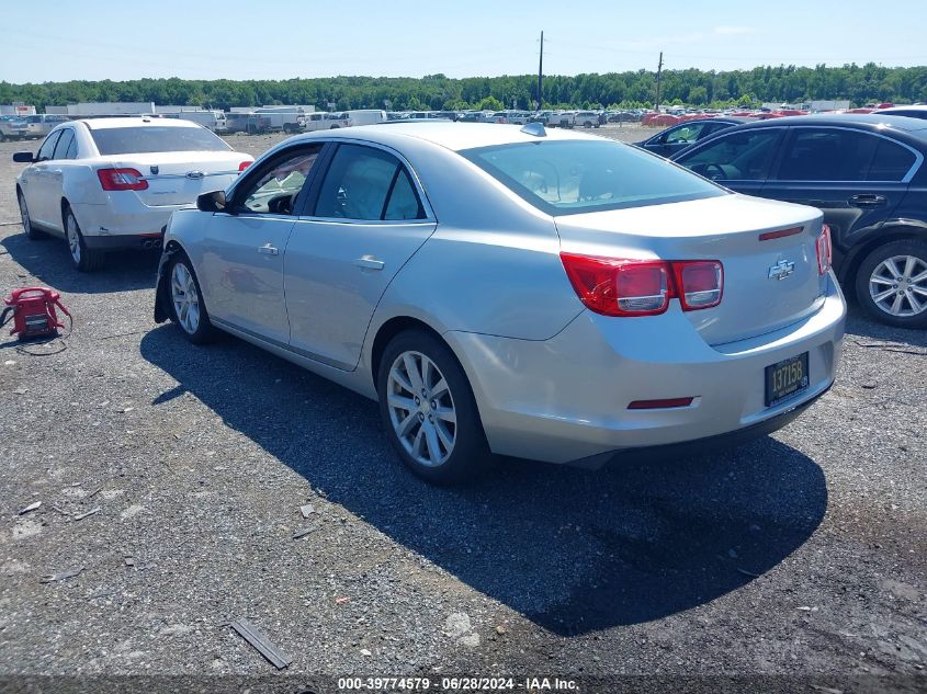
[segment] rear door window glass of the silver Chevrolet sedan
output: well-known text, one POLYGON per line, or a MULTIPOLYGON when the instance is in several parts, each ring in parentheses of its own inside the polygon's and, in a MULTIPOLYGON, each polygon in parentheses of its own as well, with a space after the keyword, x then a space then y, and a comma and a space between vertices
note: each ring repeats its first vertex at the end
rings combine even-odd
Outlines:
POLYGON ((398 159, 381 149, 341 145, 319 190, 315 216, 377 220, 425 215, 398 159))

